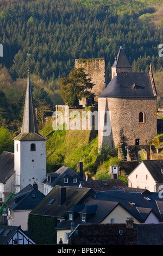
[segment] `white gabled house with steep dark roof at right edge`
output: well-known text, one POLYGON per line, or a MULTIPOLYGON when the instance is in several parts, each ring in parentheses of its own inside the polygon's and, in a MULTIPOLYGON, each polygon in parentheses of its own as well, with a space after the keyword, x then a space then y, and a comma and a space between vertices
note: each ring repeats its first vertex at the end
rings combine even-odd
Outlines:
POLYGON ((163 185, 163 160, 142 161, 128 175, 128 186, 158 192, 163 185))

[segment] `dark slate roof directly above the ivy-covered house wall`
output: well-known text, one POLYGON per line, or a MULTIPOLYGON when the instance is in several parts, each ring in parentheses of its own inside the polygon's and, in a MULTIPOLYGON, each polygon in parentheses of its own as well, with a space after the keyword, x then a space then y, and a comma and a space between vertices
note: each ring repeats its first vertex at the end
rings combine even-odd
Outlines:
POLYGON ((30 214, 64 218, 68 209, 73 205, 81 204, 92 193, 95 192, 91 188, 55 186, 30 214), (62 187, 66 188, 66 197, 59 205, 58 196, 62 187))

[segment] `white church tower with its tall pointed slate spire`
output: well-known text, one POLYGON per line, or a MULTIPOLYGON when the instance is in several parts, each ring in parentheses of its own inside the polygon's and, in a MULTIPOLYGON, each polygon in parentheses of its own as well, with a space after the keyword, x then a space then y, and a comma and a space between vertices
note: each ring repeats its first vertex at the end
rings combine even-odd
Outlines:
POLYGON ((37 129, 29 71, 22 130, 14 138, 14 162, 15 193, 34 182, 43 193, 42 182, 46 179, 46 139, 37 129))

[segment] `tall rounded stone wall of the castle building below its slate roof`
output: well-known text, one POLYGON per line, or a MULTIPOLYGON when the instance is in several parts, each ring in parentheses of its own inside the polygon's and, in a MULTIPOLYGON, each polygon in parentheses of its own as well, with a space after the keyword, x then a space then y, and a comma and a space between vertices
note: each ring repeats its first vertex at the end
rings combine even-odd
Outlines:
POLYGON ((135 145, 135 139, 139 139, 139 145, 147 145, 157 133, 155 97, 99 98, 98 114, 101 111, 109 111, 111 126, 110 135, 104 136, 103 120, 99 118, 99 147, 103 144, 111 148, 121 143, 135 145), (138 122, 141 111, 145 114, 144 123, 138 122))

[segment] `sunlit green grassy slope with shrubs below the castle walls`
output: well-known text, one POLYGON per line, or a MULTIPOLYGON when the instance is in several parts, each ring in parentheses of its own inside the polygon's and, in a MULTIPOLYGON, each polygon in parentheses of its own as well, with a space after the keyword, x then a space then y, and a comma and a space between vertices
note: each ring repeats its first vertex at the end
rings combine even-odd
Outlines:
POLYGON ((49 121, 44 127, 43 135, 47 138, 48 172, 53 172, 62 165, 78 172, 78 162, 81 159, 84 172, 91 174, 93 179, 109 179, 110 165, 120 164, 116 154, 109 155, 105 151, 105 158, 98 154, 98 136, 90 141, 90 131, 53 131, 49 121), (91 170, 96 170, 96 174, 91 170))

